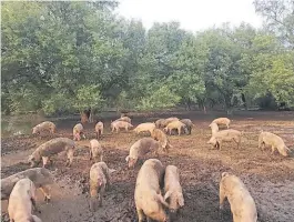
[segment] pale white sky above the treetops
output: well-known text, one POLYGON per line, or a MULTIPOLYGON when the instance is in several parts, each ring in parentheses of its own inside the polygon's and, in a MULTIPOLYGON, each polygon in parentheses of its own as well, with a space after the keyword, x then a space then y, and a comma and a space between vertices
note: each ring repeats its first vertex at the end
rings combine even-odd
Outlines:
POLYGON ((145 28, 153 22, 180 21, 183 29, 201 31, 242 21, 258 28, 262 18, 255 13, 253 0, 120 0, 116 12, 128 19, 142 20, 145 28))

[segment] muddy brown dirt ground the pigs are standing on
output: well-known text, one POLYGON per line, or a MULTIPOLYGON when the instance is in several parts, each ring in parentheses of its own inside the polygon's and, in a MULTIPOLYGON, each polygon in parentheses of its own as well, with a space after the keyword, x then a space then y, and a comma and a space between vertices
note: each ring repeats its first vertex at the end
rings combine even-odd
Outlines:
MULTIPOLYGON (((257 149, 261 130, 281 135, 288 148, 294 150, 294 112, 236 112, 231 117, 232 129, 244 131, 242 147, 224 143, 221 151, 211 149, 206 143, 211 137, 210 122, 223 113, 202 114, 200 112, 180 112, 165 114, 132 114, 133 124, 154 121, 158 118, 175 115, 190 118, 195 124, 191 135, 171 135, 173 149, 169 154, 158 158, 164 165, 174 164, 180 169, 185 205, 176 221, 180 222, 230 222, 232 214, 226 202, 225 210, 219 211, 219 181, 222 172, 239 175, 256 202, 260 222, 294 221, 294 151, 290 158, 271 154, 271 149, 257 149)), ((54 137, 72 138, 72 127, 78 120, 58 122, 54 137)), ((89 211, 89 170, 91 162, 85 145, 94 138, 94 123, 87 124, 88 140, 80 141, 72 168, 65 168, 65 158, 55 157, 52 170, 57 182, 52 188, 50 203, 43 201, 38 191, 39 215, 43 222, 131 222, 136 221, 133 193, 140 165, 129 170, 125 157, 130 145, 143 135, 133 132, 110 132, 110 119, 103 120, 105 134, 101 143, 104 148, 104 161, 116 171, 111 176, 111 190, 104 195, 103 206, 95 213, 89 211)), ((1 176, 8 176, 29 168, 28 155, 50 138, 19 135, 2 138, 1 176)), ((7 201, 2 201, 2 221, 7 220, 7 201)))

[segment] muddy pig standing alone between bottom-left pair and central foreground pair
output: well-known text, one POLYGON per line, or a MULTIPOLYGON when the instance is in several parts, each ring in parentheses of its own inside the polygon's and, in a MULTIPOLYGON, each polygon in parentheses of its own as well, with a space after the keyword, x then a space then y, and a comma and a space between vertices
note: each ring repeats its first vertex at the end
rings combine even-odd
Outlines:
POLYGON ((102 205, 105 189, 110 185, 110 174, 115 170, 109 169, 107 163, 94 163, 90 169, 90 210, 97 210, 97 201, 102 205))

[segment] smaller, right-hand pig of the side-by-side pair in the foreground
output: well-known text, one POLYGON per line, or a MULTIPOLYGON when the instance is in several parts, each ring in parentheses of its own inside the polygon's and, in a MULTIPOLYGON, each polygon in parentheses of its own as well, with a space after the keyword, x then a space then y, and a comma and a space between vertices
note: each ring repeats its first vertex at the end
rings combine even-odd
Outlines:
POLYGON ((184 196, 180 184, 179 169, 175 165, 168 165, 165 168, 164 192, 164 201, 169 203, 170 212, 172 214, 178 213, 179 209, 184 206, 184 196))

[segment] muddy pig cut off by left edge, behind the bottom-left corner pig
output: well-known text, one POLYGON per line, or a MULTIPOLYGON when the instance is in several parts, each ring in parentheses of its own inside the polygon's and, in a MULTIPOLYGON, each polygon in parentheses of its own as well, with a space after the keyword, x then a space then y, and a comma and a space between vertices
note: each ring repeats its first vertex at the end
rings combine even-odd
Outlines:
POLYGON ((41 190, 47 202, 50 201, 50 185, 54 183, 53 175, 45 168, 28 169, 1 180, 1 200, 8 200, 16 183, 23 178, 29 178, 41 190))

